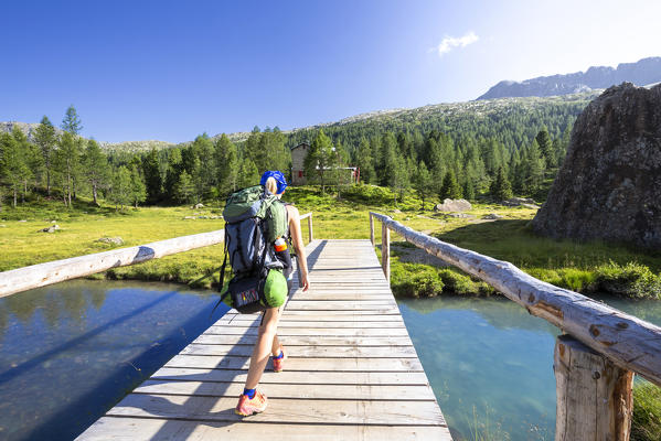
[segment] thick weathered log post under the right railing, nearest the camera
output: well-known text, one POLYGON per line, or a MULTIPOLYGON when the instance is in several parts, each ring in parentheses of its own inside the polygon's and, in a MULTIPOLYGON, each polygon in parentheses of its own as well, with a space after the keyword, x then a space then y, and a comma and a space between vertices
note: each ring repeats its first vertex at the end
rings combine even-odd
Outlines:
POLYGON ((628 441, 633 373, 571 335, 555 343, 556 441, 628 441))

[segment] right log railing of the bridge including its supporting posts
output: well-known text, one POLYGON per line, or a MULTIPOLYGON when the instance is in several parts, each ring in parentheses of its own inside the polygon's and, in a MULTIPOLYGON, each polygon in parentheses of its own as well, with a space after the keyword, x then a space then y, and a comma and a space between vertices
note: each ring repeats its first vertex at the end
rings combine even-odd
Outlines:
POLYGON ((508 261, 444 243, 371 212, 373 245, 374 219, 382 223, 386 279, 390 280, 392 229, 568 334, 558 336, 555 345, 556 440, 629 439, 632 373, 661 386, 661 327, 537 280, 508 261))

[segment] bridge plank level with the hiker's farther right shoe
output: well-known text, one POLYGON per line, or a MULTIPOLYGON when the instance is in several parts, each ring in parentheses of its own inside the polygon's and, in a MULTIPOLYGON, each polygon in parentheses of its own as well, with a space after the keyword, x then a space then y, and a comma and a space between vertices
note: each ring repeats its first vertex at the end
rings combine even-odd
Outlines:
MULTIPOLYGON (((287 348, 286 348, 287 351, 287 348)), ((289 351, 287 351, 289 354, 289 351)), ((175 355, 164 367, 196 367, 207 369, 247 369, 249 356, 198 356, 175 355)), ((267 370, 271 370, 270 361, 267 370)), ((423 372, 417 358, 287 358, 287 370, 338 370, 338 372, 423 372)))

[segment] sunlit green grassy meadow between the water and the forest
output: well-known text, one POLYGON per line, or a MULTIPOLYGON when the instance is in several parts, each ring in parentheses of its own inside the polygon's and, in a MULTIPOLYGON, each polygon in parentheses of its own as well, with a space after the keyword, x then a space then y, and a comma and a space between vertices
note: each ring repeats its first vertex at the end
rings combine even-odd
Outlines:
MULTIPOLYGON (((285 200, 300 213, 312 212, 313 234, 323 239, 370 237, 369 212, 387 214, 416 230, 440 240, 508 260, 532 276, 590 294, 606 292, 629 298, 661 298, 661 254, 599 241, 578 244, 539 237, 529 227, 535 209, 473 203, 470 218, 456 218, 434 212, 413 193, 398 197, 387 189, 358 185, 321 194, 318 187, 292 187, 285 200), (483 217, 498 214, 502 218, 483 217)), ((79 198, 71 209, 39 195, 29 204, 0 212, 0 270, 100 252, 113 248, 143 245, 156 240, 221 229, 221 203, 203 208, 191 206, 140 207, 117 211, 79 198), (192 217, 192 218, 191 218, 192 217), (53 225, 49 234, 42 228, 53 225), (121 237, 124 245, 102 243, 103 237, 121 237)), ((376 226, 380 254, 380 225, 376 226)), ((307 223, 303 222, 307 240, 307 223)), ((424 252, 392 235, 392 284, 398 295, 492 294, 493 290, 452 268, 425 263, 424 252)), ((132 267, 116 268, 110 279, 141 279, 210 287, 223 260, 222 245, 201 248, 132 267)))

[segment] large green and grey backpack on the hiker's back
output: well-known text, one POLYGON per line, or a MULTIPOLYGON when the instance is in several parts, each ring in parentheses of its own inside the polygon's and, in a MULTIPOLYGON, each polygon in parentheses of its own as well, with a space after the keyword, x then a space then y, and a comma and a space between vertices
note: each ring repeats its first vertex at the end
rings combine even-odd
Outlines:
POLYGON ((222 300, 239 312, 252 313, 280 306, 287 297, 284 265, 274 243, 287 235, 287 211, 280 200, 262 185, 239 190, 227 197, 225 209, 225 261, 221 269, 222 300), (224 283, 230 257, 233 278, 224 283))

